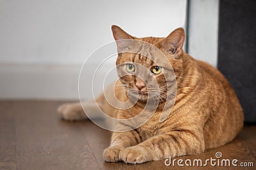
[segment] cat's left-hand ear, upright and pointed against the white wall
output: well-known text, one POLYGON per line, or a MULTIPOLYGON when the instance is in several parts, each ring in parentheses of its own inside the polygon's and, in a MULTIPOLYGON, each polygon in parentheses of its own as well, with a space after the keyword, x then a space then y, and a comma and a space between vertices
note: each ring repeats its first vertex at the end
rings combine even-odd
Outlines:
POLYGON ((117 51, 122 52, 125 48, 131 45, 131 41, 129 39, 134 39, 131 35, 127 34, 124 30, 122 30, 117 25, 112 25, 111 27, 113 36, 116 40, 117 51), (127 39, 127 40, 125 40, 127 39))

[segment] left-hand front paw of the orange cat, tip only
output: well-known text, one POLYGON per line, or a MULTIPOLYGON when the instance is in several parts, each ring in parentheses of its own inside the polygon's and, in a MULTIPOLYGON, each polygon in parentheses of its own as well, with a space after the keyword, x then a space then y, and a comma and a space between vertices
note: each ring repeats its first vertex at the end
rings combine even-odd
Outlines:
POLYGON ((119 153, 124 148, 120 146, 111 146, 109 148, 106 148, 103 152, 103 158, 106 162, 118 162, 120 161, 119 153))

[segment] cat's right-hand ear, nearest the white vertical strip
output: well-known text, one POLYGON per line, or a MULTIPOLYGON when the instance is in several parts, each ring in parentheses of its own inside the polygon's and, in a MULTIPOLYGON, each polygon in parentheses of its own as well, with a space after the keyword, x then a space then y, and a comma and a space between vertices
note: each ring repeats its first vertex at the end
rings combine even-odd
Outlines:
POLYGON ((179 59, 182 55, 182 46, 185 41, 185 31, 183 28, 175 29, 169 34, 163 41, 162 47, 171 55, 174 55, 175 59, 179 59))

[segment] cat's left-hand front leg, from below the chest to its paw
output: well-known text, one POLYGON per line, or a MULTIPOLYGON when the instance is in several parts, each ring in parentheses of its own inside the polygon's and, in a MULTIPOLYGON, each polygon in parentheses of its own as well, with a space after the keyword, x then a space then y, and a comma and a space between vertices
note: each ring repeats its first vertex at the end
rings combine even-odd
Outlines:
POLYGON ((120 161, 120 152, 125 148, 138 145, 141 142, 138 132, 132 130, 127 132, 113 132, 111 145, 103 152, 106 162, 120 161))

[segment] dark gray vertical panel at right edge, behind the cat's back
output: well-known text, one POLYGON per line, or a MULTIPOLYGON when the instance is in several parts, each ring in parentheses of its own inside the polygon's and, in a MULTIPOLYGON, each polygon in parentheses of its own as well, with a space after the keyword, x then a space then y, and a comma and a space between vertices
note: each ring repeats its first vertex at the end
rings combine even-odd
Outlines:
POLYGON ((236 90, 246 122, 256 122, 255 32, 255 0, 220 0, 218 68, 236 90))

